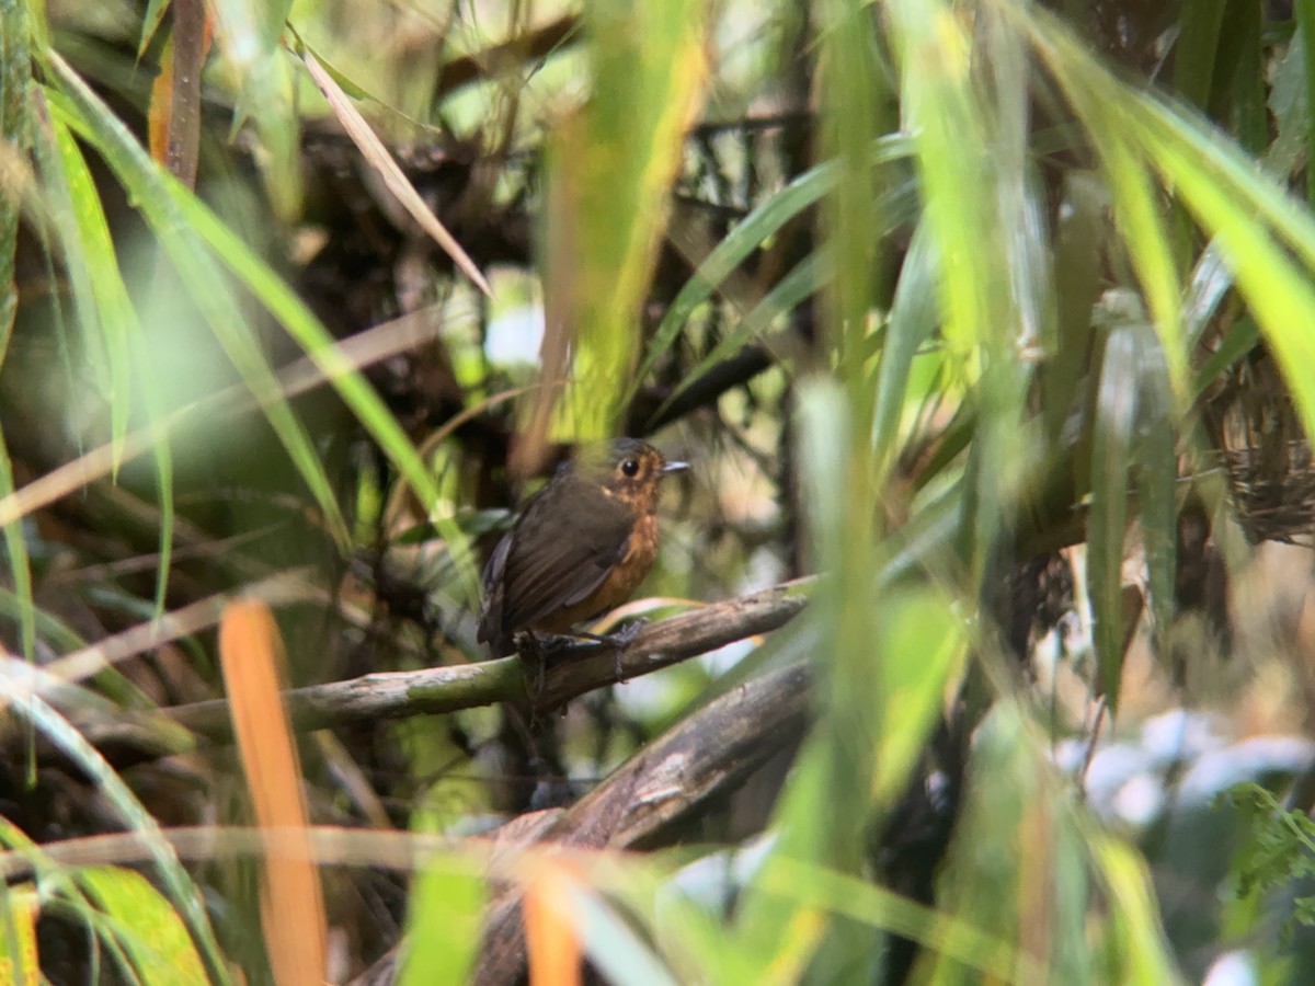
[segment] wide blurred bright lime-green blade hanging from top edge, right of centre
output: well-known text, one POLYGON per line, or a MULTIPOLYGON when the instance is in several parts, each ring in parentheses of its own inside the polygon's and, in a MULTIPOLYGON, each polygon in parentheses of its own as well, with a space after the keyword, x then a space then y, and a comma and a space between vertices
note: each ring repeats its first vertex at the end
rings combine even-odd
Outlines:
MULTIPOLYGON (((1020 356, 1023 343, 1034 343, 1023 335, 1022 306, 1040 316, 1047 280, 1043 271, 1014 270, 1031 264, 1039 251, 1030 245, 1032 233, 1016 229, 1019 217, 1002 213, 1026 201, 1018 174, 1026 128, 1018 118, 1020 96, 1013 92, 1019 80, 1005 67, 995 71, 992 58, 977 57, 978 34, 955 4, 899 0, 884 11, 899 63, 901 114, 917 135, 924 214, 943 258, 938 298, 947 369, 974 392, 974 459, 1019 464, 973 472, 977 489, 964 501, 969 514, 960 548, 978 584, 1026 479, 1030 450, 1019 422, 1031 363, 1020 356), (1015 296, 1020 289, 1026 297, 1015 296)), ((1006 57, 1007 32, 986 22, 990 9, 982 13, 981 37, 994 38, 984 50, 1006 57)))

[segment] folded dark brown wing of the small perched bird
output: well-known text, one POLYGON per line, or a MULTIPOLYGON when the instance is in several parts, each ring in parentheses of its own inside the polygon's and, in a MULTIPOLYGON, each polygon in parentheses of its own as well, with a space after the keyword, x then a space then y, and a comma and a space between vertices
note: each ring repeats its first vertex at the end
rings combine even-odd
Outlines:
POLYGON ((588 497, 589 509, 569 511, 535 510, 531 504, 517 522, 534 535, 515 538, 513 531, 502 560, 504 631, 533 626, 588 598, 625 557, 631 519, 618 504, 596 497, 588 497))

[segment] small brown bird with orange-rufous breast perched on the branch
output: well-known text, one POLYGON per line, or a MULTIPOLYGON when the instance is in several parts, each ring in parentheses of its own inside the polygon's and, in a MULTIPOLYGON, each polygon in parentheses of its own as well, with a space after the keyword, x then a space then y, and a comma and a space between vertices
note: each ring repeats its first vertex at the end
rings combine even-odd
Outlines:
POLYGON ((517 631, 564 634, 629 599, 658 556, 661 480, 688 468, 635 438, 563 463, 484 568, 480 642, 501 657, 517 631))

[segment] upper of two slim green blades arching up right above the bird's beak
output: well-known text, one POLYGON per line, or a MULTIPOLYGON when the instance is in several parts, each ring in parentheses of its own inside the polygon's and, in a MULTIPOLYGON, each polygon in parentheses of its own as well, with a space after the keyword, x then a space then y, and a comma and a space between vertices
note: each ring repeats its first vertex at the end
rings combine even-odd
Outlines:
MULTIPOLYGON (((913 141, 903 134, 880 137, 873 143, 871 163, 877 167, 899 160, 909 156, 911 150, 913 141)), ((830 192, 835 187, 836 175, 838 170, 832 162, 818 164, 806 171, 755 208, 717 245, 667 306, 667 313, 658 323, 639 365, 639 372, 635 375, 634 387, 647 379, 658 360, 680 337, 689 317, 711 297, 731 271, 757 250, 763 241, 830 192)), ((631 396, 633 393, 634 388, 631 388, 631 396)))

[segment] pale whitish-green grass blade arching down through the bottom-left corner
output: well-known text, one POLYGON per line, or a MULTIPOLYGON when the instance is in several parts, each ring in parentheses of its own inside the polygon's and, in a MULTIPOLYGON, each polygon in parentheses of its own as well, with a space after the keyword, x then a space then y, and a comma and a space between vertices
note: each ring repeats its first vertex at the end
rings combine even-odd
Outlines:
POLYGON ((8 706, 24 719, 32 722, 55 747, 91 778, 101 797, 118 812, 124 823, 138 832, 149 847, 151 862, 159 872, 160 881, 184 916, 192 937, 205 957, 213 981, 227 983, 227 965, 220 952, 214 932, 201 904, 201 894, 187 870, 179 862, 174 848, 164 839, 154 816, 142 806, 137 797, 124 784, 122 778, 105 761, 95 747, 83 739, 67 719, 38 698, 28 686, 30 676, 28 667, 4 659, 0 676, 8 678, 8 706))

